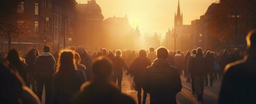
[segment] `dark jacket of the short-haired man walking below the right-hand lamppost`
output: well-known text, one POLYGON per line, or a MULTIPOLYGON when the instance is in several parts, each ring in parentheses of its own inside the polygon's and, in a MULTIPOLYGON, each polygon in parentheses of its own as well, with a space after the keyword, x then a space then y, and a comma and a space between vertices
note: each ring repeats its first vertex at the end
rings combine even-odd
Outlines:
POLYGON ((191 59, 191 75, 202 76, 207 70, 206 58, 203 55, 196 55, 191 59))

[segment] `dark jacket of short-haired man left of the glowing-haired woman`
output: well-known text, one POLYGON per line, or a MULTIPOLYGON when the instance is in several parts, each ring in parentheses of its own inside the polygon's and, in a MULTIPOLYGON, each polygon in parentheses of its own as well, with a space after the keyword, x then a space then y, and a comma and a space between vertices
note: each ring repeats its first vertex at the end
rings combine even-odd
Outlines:
POLYGON ((52 79, 55 69, 55 59, 50 53, 42 53, 42 55, 36 57, 34 63, 34 75, 35 79, 43 77, 46 79, 52 79))

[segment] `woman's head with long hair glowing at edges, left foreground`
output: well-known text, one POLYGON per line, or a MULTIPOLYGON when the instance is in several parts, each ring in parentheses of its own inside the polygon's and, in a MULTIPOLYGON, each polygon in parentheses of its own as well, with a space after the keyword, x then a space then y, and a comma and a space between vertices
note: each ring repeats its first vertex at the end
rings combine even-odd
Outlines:
POLYGON ((74 59, 74 51, 63 50, 60 53, 57 71, 58 73, 64 73, 66 75, 71 74, 76 70, 76 64, 74 59))

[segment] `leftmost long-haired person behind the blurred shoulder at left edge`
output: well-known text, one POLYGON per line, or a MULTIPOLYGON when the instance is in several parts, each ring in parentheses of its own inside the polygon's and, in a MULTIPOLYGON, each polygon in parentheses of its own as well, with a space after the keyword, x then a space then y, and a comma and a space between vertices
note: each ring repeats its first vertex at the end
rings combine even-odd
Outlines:
POLYGON ((11 49, 8 52, 6 59, 9 61, 9 66, 15 69, 15 71, 20 74, 25 84, 28 85, 28 65, 25 63, 25 60, 20 57, 18 51, 11 49))

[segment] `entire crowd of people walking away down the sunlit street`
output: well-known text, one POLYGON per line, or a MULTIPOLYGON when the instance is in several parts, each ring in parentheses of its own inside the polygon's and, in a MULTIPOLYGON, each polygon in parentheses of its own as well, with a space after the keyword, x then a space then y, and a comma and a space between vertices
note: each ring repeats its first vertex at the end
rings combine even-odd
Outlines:
POLYGON ((138 53, 105 48, 92 53, 69 47, 52 53, 46 45, 41 54, 34 48, 23 58, 11 49, 1 59, 0 103, 41 103, 43 88, 46 104, 136 103, 121 93, 123 74, 133 77, 139 104, 146 103, 147 94, 150 103, 176 103, 181 76, 191 83, 198 101, 203 101, 204 86, 222 79, 219 103, 256 102, 255 36, 255 31, 248 34, 245 52, 238 48, 204 51, 199 47, 184 52, 151 47, 138 53))

